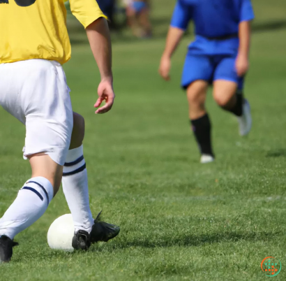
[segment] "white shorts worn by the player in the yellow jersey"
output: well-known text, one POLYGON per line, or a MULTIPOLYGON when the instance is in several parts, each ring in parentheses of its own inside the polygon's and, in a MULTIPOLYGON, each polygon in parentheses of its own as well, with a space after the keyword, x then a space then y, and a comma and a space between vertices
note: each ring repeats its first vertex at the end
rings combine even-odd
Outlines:
POLYGON ((24 157, 44 152, 64 164, 73 131, 69 92, 58 62, 0 64, 0 105, 26 125, 24 157))

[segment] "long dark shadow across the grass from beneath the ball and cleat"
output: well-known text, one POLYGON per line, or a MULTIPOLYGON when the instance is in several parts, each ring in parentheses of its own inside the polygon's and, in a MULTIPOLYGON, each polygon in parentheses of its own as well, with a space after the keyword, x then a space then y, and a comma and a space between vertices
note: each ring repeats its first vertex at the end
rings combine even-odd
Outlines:
MULTIPOLYGON (((133 240, 124 240, 121 238, 116 241, 113 240, 112 243, 104 243, 100 245, 95 245, 91 247, 89 251, 74 251, 74 252, 63 252, 62 250, 48 250, 46 242, 39 244, 37 247, 32 247, 30 249, 29 245, 26 247, 17 247, 15 250, 15 255, 13 256, 13 264, 25 262, 27 259, 35 260, 38 262, 54 263, 57 261, 70 259, 86 259, 91 253, 111 253, 119 250, 128 250, 132 248, 164 248, 164 247, 200 247, 202 245, 211 245, 214 243, 237 243, 237 242, 257 242, 265 241, 265 243, 270 240, 273 241, 276 237, 282 236, 282 232, 250 232, 250 233, 238 233, 238 232, 219 232, 213 234, 204 235, 182 235, 181 236, 152 236, 151 239, 141 239, 133 238, 133 240), (29 250, 28 250, 29 249, 29 250), (19 251, 19 252, 18 252, 19 251)), ((32 243, 31 243, 32 244, 32 243)))

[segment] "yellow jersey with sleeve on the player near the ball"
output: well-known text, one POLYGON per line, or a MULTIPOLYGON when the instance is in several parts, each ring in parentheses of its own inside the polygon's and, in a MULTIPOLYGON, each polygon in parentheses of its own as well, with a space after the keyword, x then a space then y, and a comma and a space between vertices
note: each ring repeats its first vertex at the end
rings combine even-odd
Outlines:
MULTIPOLYGON (((0 64, 70 59, 65 0, 0 0, 0 64)), ((70 10, 84 28, 105 17, 96 0, 70 0, 70 10)))

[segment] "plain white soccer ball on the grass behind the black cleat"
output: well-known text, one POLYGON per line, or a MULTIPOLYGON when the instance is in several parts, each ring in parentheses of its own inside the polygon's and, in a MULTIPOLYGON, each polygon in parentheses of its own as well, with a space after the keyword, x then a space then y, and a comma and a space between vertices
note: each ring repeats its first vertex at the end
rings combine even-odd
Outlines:
POLYGON ((73 252, 72 240, 75 232, 71 214, 58 217, 47 231, 47 243, 50 248, 73 252))

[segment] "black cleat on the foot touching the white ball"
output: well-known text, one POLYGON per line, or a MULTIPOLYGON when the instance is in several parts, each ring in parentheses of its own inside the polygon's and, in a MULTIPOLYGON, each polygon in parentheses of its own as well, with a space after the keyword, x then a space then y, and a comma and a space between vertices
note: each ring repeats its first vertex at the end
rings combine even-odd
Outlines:
POLYGON ((120 227, 107 222, 100 222, 101 212, 94 220, 91 233, 79 230, 73 236, 73 248, 76 250, 89 250, 91 243, 98 241, 107 242, 119 234, 120 227))

